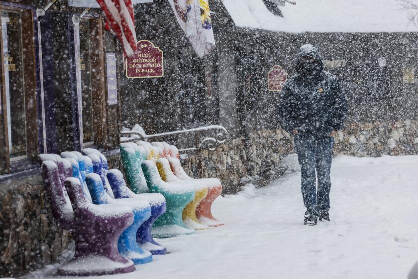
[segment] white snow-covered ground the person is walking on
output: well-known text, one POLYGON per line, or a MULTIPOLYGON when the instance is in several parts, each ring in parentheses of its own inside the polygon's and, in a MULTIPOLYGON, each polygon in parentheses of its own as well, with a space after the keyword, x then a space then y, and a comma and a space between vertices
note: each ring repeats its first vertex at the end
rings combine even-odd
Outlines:
POLYGON ((169 255, 105 279, 406 279, 418 261, 418 156, 339 156, 330 222, 304 226, 300 173, 218 198, 225 223, 164 239, 169 255))

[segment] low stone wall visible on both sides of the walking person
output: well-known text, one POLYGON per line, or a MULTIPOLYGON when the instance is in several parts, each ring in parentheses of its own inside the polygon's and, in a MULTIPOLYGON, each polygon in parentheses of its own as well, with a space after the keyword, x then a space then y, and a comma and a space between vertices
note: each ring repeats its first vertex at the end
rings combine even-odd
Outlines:
MULTIPOLYGON (((286 170, 282 159, 293 153, 293 137, 278 130, 261 130, 230 139, 214 151, 182 155, 186 171, 194 177, 217 177, 224 194, 236 193, 250 181, 269 183, 286 170), (247 147, 245 147, 245 145, 247 147)), ((418 153, 418 121, 347 123, 335 136, 334 155, 382 156, 418 153)))

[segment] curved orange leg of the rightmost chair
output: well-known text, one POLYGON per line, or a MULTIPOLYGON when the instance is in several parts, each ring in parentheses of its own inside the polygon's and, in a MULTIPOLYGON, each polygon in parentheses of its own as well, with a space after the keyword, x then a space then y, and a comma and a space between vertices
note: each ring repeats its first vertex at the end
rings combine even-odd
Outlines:
POLYGON ((213 201, 222 193, 222 186, 211 187, 208 189, 208 195, 196 208, 196 217, 202 223, 209 227, 219 227, 223 224, 212 216, 211 207, 213 201))

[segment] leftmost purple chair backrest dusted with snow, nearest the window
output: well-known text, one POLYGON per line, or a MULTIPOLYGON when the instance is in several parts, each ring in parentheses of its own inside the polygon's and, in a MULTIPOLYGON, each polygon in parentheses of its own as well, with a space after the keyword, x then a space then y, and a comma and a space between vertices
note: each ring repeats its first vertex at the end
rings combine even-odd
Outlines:
POLYGON ((42 161, 41 172, 54 218, 61 227, 71 230, 74 222, 74 211, 64 185, 61 183, 57 164, 51 160, 44 160, 42 161))

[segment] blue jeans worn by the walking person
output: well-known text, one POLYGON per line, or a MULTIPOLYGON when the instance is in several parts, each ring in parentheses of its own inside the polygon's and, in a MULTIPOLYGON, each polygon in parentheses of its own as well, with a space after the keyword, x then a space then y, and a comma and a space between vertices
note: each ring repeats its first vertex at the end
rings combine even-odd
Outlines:
POLYGON ((329 191, 331 189, 332 137, 296 135, 295 150, 298 153, 302 171, 302 196, 307 209, 305 215, 318 217, 329 211, 329 191), (316 173, 315 173, 316 170, 316 173), (316 175, 318 190, 316 191, 316 175))

